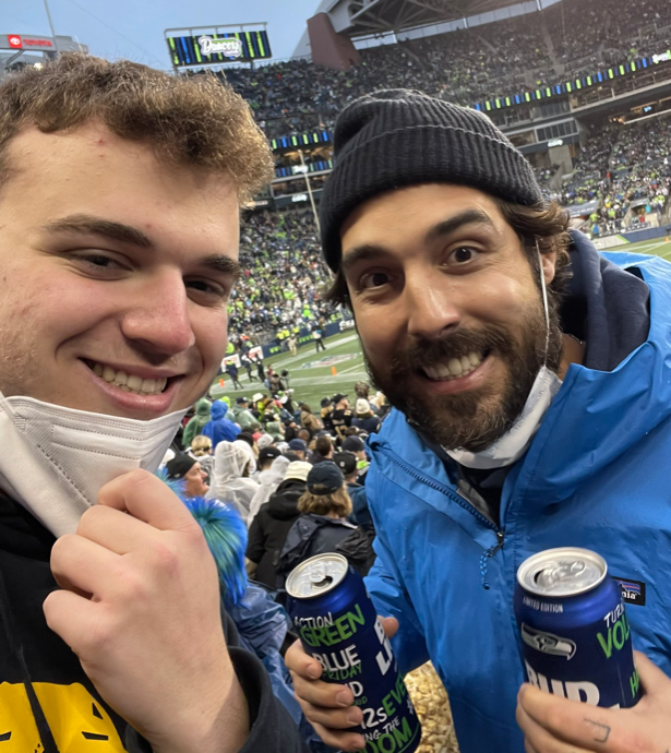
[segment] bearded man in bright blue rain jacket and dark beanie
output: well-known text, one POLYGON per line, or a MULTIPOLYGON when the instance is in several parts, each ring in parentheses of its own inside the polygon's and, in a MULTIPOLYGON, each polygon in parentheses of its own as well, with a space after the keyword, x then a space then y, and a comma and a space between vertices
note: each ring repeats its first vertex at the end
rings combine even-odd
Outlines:
MULTIPOLYGON (((384 91, 351 104, 334 139, 331 298, 394 406, 370 440, 367 586, 402 672, 433 661, 463 753, 668 750, 671 680, 649 659, 671 672, 671 267, 568 232, 477 111, 384 91), (515 574, 562 546, 646 584, 627 611, 649 657, 633 710, 520 692, 515 574)), ((298 645, 288 664, 323 739, 362 748, 350 689, 315 680, 298 645)))

